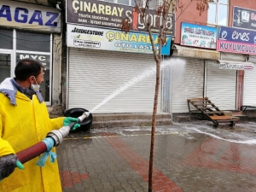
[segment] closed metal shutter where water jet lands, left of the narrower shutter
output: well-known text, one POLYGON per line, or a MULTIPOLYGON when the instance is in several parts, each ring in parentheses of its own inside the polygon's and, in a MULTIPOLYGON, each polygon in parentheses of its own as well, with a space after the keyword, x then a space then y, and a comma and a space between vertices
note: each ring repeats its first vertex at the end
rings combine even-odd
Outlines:
POLYGON ((202 97, 204 93, 204 60, 180 59, 186 61, 185 66, 172 66, 172 113, 188 113, 187 99, 202 97))

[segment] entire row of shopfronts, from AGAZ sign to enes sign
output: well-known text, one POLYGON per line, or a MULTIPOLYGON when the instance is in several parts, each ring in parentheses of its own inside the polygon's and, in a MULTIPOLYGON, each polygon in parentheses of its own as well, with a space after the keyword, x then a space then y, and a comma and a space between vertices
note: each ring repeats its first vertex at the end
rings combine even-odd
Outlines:
MULTIPOLYGON (((163 61, 173 57, 186 65, 162 70, 158 112, 188 113, 187 99, 202 96, 222 110, 253 105, 256 5, 213 1, 200 15, 197 1, 182 3, 168 22, 162 55, 163 61)), ((34 58, 45 67, 42 93, 49 107, 151 113, 155 61, 134 5, 133 0, 1 1, 0 82, 14 77, 20 59, 34 58), (127 15, 129 33, 119 28, 127 15)), ((149 16, 157 18, 153 9, 149 16)))

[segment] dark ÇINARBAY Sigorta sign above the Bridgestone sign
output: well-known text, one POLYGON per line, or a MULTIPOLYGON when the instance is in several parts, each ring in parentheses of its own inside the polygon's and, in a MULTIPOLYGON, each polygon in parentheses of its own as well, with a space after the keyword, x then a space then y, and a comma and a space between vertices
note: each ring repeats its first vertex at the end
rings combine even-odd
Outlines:
MULTIPOLYGON (((127 18, 131 31, 147 32, 140 14, 131 6, 98 0, 67 0, 66 3, 67 23, 120 30, 122 20, 127 18)), ((146 17, 150 17, 152 32, 159 33, 155 26, 160 25, 162 17, 156 15, 153 9, 146 17)), ((167 35, 175 36, 175 14, 168 18, 166 28, 167 35)))

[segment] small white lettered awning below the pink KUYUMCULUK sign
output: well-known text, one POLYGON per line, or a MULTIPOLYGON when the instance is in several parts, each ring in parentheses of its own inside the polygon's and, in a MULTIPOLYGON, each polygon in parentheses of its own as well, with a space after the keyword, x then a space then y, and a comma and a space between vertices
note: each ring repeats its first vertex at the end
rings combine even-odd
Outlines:
POLYGON ((252 62, 218 60, 220 69, 253 70, 252 62))

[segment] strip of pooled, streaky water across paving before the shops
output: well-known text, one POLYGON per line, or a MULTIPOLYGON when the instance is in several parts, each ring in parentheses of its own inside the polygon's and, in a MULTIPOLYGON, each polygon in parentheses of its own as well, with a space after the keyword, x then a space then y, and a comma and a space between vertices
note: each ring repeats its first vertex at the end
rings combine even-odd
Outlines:
MULTIPOLYGON (((117 127, 91 129, 89 132, 70 134, 69 137, 96 137, 102 133, 118 136, 150 135, 151 127, 117 127)), ((213 128, 212 122, 195 120, 186 123, 174 123, 173 125, 156 126, 155 134, 176 134, 187 139, 195 139, 195 135, 204 134, 207 137, 224 140, 231 143, 256 144, 256 122, 237 123, 234 129, 229 125, 219 125, 213 128)))

